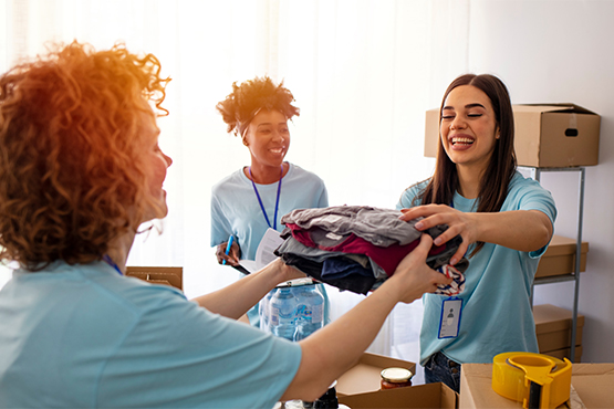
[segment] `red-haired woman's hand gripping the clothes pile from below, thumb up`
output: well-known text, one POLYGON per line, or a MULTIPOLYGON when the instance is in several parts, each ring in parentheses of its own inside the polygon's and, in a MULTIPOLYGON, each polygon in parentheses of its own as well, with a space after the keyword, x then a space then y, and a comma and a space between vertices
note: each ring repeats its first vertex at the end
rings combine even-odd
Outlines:
POLYGON ((391 282, 396 282, 395 286, 402 291, 399 302, 412 303, 424 293, 434 293, 437 285, 448 285, 452 282, 452 279, 448 279, 426 264, 431 245, 430 235, 423 233, 418 247, 398 263, 393 276, 388 279, 391 282))

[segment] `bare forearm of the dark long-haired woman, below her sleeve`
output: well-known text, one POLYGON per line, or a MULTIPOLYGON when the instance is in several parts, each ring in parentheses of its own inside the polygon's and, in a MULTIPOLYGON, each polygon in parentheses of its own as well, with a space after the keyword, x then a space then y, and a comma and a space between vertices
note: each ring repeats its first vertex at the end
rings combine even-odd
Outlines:
POLYGON ((539 210, 470 214, 478 226, 476 241, 529 252, 541 249, 552 238, 552 223, 539 210))

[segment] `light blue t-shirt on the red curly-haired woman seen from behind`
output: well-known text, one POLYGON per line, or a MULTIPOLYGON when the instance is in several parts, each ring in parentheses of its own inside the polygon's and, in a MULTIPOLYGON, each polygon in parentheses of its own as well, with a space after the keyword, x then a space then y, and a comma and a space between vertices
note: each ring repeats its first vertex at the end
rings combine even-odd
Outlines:
POLYGON ((273 407, 298 344, 103 262, 15 271, 0 291, 0 407, 273 407))

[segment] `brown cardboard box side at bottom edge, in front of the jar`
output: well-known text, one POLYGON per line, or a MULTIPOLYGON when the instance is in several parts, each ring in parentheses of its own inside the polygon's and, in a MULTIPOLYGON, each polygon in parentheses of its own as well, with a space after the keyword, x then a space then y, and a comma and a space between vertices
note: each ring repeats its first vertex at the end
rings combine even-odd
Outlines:
POLYGON ((458 395, 444 384, 378 390, 339 398, 352 409, 362 408, 458 408, 458 395))

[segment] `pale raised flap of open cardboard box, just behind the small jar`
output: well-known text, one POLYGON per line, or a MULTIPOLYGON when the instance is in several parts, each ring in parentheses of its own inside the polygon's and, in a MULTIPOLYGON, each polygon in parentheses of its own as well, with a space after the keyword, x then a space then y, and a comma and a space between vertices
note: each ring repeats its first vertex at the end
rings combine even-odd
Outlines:
POLYGON ((341 397, 379 390, 382 381, 379 373, 389 367, 406 368, 412 374, 416 374, 416 364, 414 363, 364 353, 358 363, 337 379, 336 395, 341 397))

